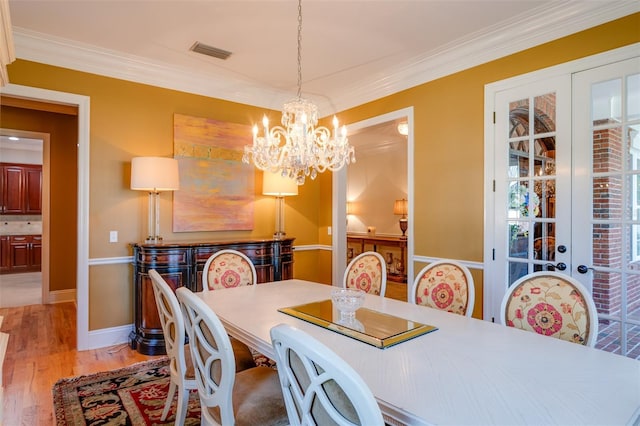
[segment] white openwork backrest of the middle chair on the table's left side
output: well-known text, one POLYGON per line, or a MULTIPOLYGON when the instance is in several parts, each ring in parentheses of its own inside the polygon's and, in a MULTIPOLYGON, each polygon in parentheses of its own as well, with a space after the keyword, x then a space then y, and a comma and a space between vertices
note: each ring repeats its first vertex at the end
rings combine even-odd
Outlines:
MULTIPOLYGON (((236 366, 229 336, 218 316, 191 290, 176 290, 187 317, 189 347, 196 373, 200 403, 205 407, 219 407, 221 424, 234 424, 232 392, 236 366)), ((202 407, 202 415, 210 416, 202 407)), ((208 419, 209 424, 217 420, 208 419)))

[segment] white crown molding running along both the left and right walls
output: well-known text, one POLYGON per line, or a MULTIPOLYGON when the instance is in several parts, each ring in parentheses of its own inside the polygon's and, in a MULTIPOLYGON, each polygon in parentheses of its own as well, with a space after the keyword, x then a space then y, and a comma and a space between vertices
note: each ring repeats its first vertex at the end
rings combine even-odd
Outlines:
MULTIPOLYGON (((640 11, 637 1, 552 2, 509 22, 416 57, 340 93, 307 96, 321 116, 352 108, 446 75, 640 11)), ((16 57, 92 74, 279 110, 291 94, 234 77, 171 67, 144 58, 14 27, 16 57)))

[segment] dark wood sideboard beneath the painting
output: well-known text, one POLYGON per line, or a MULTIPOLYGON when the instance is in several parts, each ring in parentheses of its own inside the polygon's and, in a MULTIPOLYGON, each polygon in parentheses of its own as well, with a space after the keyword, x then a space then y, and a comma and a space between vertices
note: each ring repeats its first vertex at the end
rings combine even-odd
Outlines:
POLYGON ((202 290, 202 270, 213 253, 233 249, 253 262, 258 283, 293 278, 293 240, 233 240, 197 243, 133 244, 134 329, 132 349, 145 355, 166 353, 162 324, 149 271, 155 269, 175 290, 202 290))

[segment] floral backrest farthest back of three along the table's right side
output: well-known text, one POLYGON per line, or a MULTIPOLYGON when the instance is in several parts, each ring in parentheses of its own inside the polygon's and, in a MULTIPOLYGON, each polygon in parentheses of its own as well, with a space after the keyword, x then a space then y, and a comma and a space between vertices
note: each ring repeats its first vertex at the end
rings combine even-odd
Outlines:
POLYGON ((384 296, 387 288, 387 264, 380 253, 365 251, 354 257, 344 271, 342 286, 384 296))

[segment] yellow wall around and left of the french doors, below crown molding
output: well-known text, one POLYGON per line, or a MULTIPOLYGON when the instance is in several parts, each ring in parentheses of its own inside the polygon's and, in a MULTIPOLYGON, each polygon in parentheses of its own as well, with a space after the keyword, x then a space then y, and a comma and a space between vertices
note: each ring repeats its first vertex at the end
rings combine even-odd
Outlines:
MULTIPOLYGON (((636 13, 341 112, 341 121, 354 123, 413 106, 414 254, 483 261, 486 84, 639 41, 636 13)), ((479 318, 482 271, 472 274, 479 318)))

